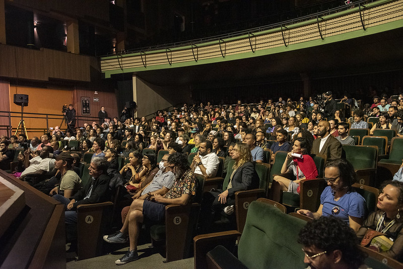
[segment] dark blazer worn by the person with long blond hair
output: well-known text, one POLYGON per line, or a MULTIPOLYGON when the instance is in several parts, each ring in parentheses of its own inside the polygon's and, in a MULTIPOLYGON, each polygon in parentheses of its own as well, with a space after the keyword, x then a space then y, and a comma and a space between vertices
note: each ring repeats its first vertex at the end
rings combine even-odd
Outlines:
POLYGON ((232 188, 228 189, 228 195, 233 196, 239 190, 254 189, 259 187, 259 177, 251 162, 244 163, 235 171, 231 180, 232 188))

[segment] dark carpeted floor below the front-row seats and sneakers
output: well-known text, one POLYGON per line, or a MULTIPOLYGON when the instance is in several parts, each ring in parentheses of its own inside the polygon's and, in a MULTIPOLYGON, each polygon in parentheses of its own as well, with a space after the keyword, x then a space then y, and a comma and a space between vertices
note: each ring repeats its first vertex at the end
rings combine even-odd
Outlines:
POLYGON ((149 248, 150 243, 146 243, 144 245, 141 245, 138 247, 139 250, 139 259, 136 261, 132 261, 129 263, 126 263, 124 265, 116 265, 115 260, 120 258, 121 256, 126 253, 128 246, 124 248, 122 245, 114 245, 115 249, 111 249, 110 254, 106 254, 103 256, 91 258, 91 259, 85 259, 85 260, 74 260, 74 256, 76 255, 75 252, 68 252, 66 253, 67 260, 66 262, 66 268, 67 269, 103 269, 103 268, 142 268, 142 269, 148 269, 148 268, 175 268, 175 269, 190 269, 194 267, 193 263, 193 258, 188 258, 188 259, 182 259, 182 260, 177 260, 177 261, 171 261, 168 263, 164 263, 163 261, 165 260, 164 257, 162 257, 159 253, 155 251, 153 248, 149 248))

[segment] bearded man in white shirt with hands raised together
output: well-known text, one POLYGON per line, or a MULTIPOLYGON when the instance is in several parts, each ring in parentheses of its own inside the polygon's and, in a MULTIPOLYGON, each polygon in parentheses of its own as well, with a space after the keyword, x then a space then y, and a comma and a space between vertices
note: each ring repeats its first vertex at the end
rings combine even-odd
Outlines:
POLYGON ((194 174, 215 177, 220 161, 213 152, 213 144, 206 140, 200 143, 197 154, 193 157, 190 168, 194 174))

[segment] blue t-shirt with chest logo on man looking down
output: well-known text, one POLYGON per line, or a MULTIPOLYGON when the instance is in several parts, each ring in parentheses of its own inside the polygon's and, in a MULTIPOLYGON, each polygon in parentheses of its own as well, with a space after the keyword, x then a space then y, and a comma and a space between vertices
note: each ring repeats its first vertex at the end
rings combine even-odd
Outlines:
POLYGON ((358 192, 348 192, 335 201, 330 186, 320 195, 320 204, 323 205, 322 216, 334 216, 346 222, 349 222, 349 216, 364 218, 367 213, 365 199, 358 192))

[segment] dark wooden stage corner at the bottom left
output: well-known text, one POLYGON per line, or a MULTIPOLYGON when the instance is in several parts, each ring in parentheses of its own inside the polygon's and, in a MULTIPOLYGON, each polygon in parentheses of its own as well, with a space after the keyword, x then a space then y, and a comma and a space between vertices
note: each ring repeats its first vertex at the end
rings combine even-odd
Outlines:
POLYGON ((65 268, 63 205, 0 170, 0 267, 65 268))

